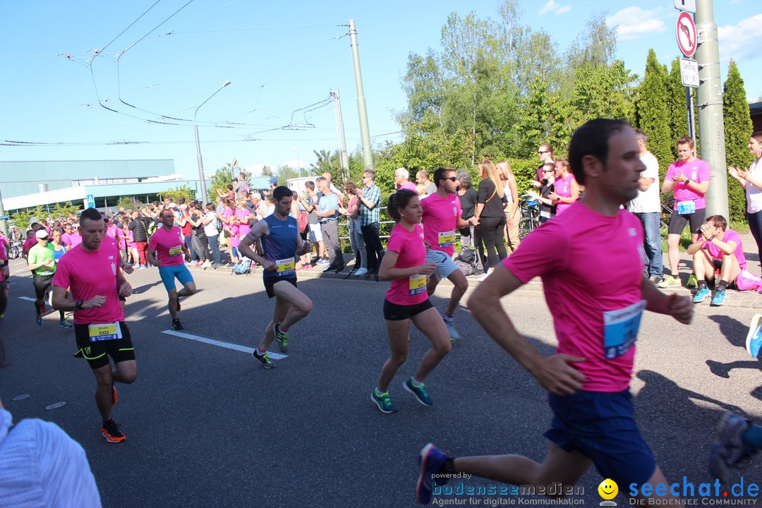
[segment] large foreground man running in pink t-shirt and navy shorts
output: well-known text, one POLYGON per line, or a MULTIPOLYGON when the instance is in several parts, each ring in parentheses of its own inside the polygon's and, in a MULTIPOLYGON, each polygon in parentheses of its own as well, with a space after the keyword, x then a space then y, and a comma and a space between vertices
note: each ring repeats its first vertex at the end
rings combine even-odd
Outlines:
POLYGON ((572 485, 594 464, 619 485, 668 485, 635 422, 629 380, 643 310, 688 324, 693 304, 662 294, 643 275, 642 225, 620 209, 637 195, 645 170, 632 128, 622 120, 585 123, 571 137, 569 160, 584 200, 524 238, 469 299, 492 339, 550 392, 549 451, 542 463, 519 455, 452 458, 429 443, 421 451, 421 503, 431 501, 433 474, 453 472, 515 485, 572 485), (559 340, 553 356, 522 337, 500 302, 535 276, 552 302, 559 340))

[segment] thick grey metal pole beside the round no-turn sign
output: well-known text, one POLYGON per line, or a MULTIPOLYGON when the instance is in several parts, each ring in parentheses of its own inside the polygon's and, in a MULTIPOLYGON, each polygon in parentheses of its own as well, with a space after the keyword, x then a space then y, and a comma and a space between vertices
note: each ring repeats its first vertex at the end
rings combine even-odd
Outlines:
POLYGON ((728 215, 728 174, 725 160, 725 123, 722 119, 722 83, 719 79, 719 45, 712 0, 696 1, 696 34, 699 63, 699 129, 701 158, 709 162, 712 178, 706 193, 707 216, 728 215))

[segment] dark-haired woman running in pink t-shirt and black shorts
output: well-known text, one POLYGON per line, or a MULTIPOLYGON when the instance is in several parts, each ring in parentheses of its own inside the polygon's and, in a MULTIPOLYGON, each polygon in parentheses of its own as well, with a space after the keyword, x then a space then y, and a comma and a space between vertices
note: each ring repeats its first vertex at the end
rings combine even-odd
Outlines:
POLYGON ((421 200, 415 190, 400 189, 389 196, 386 206, 389 216, 396 222, 389 236, 386 254, 379 268, 379 279, 391 280, 383 302, 386 330, 389 332, 389 358, 383 364, 379 383, 370 399, 382 413, 395 413, 397 407, 389 397, 389 383, 397 370, 408 359, 410 321, 431 340, 421 365, 407 381, 405 390, 425 406, 434 401, 424 385, 426 376, 450 353, 450 334, 442 317, 428 299, 427 275, 434 273, 434 263, 426 262, 424 230, 421 227, 421 200))

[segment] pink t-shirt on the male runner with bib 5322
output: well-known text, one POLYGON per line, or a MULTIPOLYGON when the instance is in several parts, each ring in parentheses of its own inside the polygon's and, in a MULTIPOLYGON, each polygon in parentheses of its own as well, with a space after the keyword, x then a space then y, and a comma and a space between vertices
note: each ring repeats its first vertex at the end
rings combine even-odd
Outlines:
POLYGON ((53 285, 71 288, 72 298, 89 300, 105 296, 101 307, 83 308, 74 312, 75 324, 106 324, 124 321, 124 313, 117 293, 119 252, 109 242, 101 242, 98 251, 72 248, 56 266, 53 285))

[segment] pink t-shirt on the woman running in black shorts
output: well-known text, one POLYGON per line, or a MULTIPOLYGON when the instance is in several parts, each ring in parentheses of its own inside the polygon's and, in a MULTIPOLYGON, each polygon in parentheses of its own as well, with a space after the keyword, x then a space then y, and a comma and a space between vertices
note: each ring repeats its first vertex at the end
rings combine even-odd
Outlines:
MULTIPOLYGON (((395 268, 419 267, 426 262, 426 247, 424 246, 424 230, 416 224, 408 231, 400 224, 392 228, 392 235, 386 244, 386 250, 399 254, 395 268)), ((414 275, 405 279, 392 280, 392 285, 386 292, 386 299, 397 305, 416 305, 428 298, 426 292, 427 278, 425 275, 414 275)))

